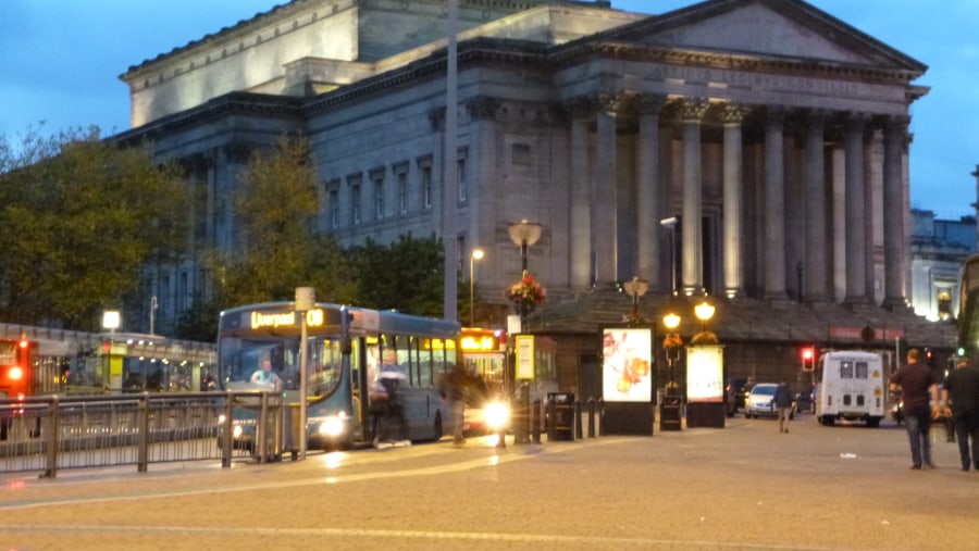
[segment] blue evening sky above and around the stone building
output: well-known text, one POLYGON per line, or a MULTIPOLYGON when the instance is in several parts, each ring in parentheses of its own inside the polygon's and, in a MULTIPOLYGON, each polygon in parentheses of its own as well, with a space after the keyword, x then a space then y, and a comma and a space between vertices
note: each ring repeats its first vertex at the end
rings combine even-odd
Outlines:
MULTIPOLYGON (((286 0, 0 0, 0 136, 128 129, 131 66, 286 0)), ((692 0, 612 0, 664 13, 692 0)), ((979 166, 979 1, 809 0, 928 65, 910 108, 912 208, 972 215, 979 166)))

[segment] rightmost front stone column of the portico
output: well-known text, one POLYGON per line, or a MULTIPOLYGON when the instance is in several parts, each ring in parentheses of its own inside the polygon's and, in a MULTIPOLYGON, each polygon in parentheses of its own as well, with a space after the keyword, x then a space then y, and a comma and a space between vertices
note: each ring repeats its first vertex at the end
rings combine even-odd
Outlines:
POLYGON ((908 117, 892 116, 884 126, 883 226, 884 226, 884 306, 907 305, 904 236, 904 135, 908 117))

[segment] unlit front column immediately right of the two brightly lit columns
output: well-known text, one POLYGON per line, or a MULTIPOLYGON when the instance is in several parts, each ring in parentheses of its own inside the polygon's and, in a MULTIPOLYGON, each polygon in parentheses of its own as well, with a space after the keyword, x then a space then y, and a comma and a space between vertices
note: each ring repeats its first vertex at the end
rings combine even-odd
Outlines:
POLYGON ((785 300, 784 124, 788 112, 769 108, 765 122, 765 298, 785 300))

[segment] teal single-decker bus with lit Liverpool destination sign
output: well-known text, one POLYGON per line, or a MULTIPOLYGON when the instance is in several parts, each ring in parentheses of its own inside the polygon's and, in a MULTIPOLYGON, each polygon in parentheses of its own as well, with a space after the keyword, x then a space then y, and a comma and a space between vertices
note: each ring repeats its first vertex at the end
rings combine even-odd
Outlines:
MULTIPOLYGON (((376 443, 381 429, 373 423, 372 406, 377 400, 371 389, 381 377, 382 359, 387 358, 405 375, 398 397, 407 439, 437 440, 451 433, 451 405, 438 383, 460 361, 457 322, 322 302, 305 313, 297 312, 294 302, 233 308, 222 312, 219 322, 219 387, 271 391, 282 397, 285 406, 300 406, 303 325, 309 449, 376 443), (255 376, 267 362, 273 374, 271 385, 255 376)), ((256 453, 257 417, 253 408, 234 409, 234 448, 256 453)))

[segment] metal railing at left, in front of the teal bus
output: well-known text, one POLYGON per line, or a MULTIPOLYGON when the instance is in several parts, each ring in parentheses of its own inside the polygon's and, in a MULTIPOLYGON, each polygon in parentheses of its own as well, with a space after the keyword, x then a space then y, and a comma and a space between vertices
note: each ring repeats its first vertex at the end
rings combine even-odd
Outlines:
POLYGON ((268 392, 51 396, 0 400, 0 472, 40 472, 150 463, 251 459, 232 442, 232 412, 255 411, 259 461, 280 453, 283 399, 268 392), (221 418, 228 419, 221 423, 221 418))

